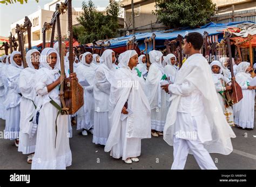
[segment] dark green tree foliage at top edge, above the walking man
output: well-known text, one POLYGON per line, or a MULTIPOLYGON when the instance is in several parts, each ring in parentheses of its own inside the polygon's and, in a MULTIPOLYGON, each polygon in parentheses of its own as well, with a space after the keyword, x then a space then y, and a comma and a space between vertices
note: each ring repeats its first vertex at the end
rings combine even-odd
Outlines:
POLYGON ((211 0, 156 0, 153 13, 170 28, 197 27, 210 22, 214 15, 215 4, 211 0))

